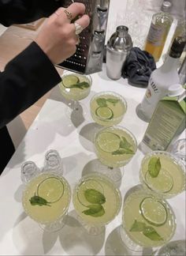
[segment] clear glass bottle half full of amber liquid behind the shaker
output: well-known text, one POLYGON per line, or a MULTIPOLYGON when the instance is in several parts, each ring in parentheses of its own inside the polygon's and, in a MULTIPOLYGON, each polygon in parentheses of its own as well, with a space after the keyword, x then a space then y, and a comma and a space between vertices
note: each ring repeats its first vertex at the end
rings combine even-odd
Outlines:
POLYGON ((163 2, 162 12, 155 13, 152 17, 144 50, 153 55, 155 62, 158 62, 162 55, 169 29, 173 23, 173 17, 169 14, 171 6, 171 2, 163 2))

